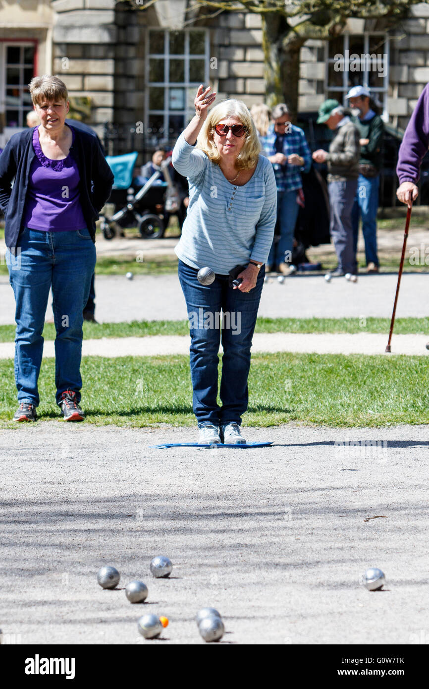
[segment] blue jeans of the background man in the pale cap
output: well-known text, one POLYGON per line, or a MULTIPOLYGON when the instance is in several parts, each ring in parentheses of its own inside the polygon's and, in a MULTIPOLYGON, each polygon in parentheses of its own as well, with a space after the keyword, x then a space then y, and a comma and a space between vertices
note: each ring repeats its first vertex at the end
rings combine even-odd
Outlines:
POLYGON ((364 177, 359 174, 357 193, 352 210, 353 247, 357 250, 357 235, 359 233, 359 216, 362 216, 362 234, 365 240, 366 265, 379 265, 377 256, 377 208, 380 178, 364 177))

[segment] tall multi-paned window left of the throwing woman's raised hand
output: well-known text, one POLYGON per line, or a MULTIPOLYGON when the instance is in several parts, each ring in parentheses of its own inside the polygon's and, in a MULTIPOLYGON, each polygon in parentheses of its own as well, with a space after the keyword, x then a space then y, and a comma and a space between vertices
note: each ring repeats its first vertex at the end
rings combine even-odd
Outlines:
POLYGON ((149 145, 177 138, 194 112, 200 83, 209 81, 209 33, 205 29, 150 29, 146 55, 146 123, 149 145))

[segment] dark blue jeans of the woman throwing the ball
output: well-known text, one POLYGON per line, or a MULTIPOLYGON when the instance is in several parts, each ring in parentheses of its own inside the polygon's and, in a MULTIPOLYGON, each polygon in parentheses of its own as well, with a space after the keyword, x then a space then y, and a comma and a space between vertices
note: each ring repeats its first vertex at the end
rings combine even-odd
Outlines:
POLYGON ((247 410, 250 348, 262 285, 264 266, 256 286, 245 293, 228 285, 227 275, 216 275, 211 285, 200 285, 198 270, 179 260, 179 280, 185 296, 191 331, 193 413, 198 423, 215 426, 236 422, 247 410), (220 330, 220 311, 224 327, 220 330), (222 341, 222 377, 218 405, 218 351, 222 341))

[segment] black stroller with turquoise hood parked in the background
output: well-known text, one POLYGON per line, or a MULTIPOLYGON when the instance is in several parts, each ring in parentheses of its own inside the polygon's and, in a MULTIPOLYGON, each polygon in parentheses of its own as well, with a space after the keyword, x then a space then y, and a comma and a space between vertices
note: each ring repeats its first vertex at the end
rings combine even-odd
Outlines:
POLYGON ((114 238, 118 229, 123 236, 125 227, 136 226, 140 237, 158 239, 163 236, 167 221, 165 216, 155 212, 156 205, 163 205, 167 213, 176 213, 179 209, 180 198, 167 169, 171 157, 161 164, 166 181, 160 181, 160 172, 154 172, 135 193, 132 179, 137 156, 136 151, 122 156, 106 156, 114 174, 112 194, 107 203, 113 203, 115 207, 112 217, 101 215, 101 231, 106 239, 114 238))

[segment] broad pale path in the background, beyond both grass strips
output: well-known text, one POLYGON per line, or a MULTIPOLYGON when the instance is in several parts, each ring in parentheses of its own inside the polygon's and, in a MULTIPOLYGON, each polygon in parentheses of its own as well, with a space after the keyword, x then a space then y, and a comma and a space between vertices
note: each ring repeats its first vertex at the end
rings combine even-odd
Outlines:
MULTIPOLYGON (((359 276, 358 282, 323 276, 293 276, 280 285, 267 282, 259 316, 266 318, 346 318, 392 316, 396 274, 359 276)), ((397 318, 429 316, 429 274, 404 274, 397 318)), ((14 297, 8 278, 0 277, 0 325, 14 322, 14 297)), ((46 318, 52 318, 50 306, 46 318)), ((187 309, 176 275, 98 276, 96 318, 99 322, 185 320, 187 309)))

